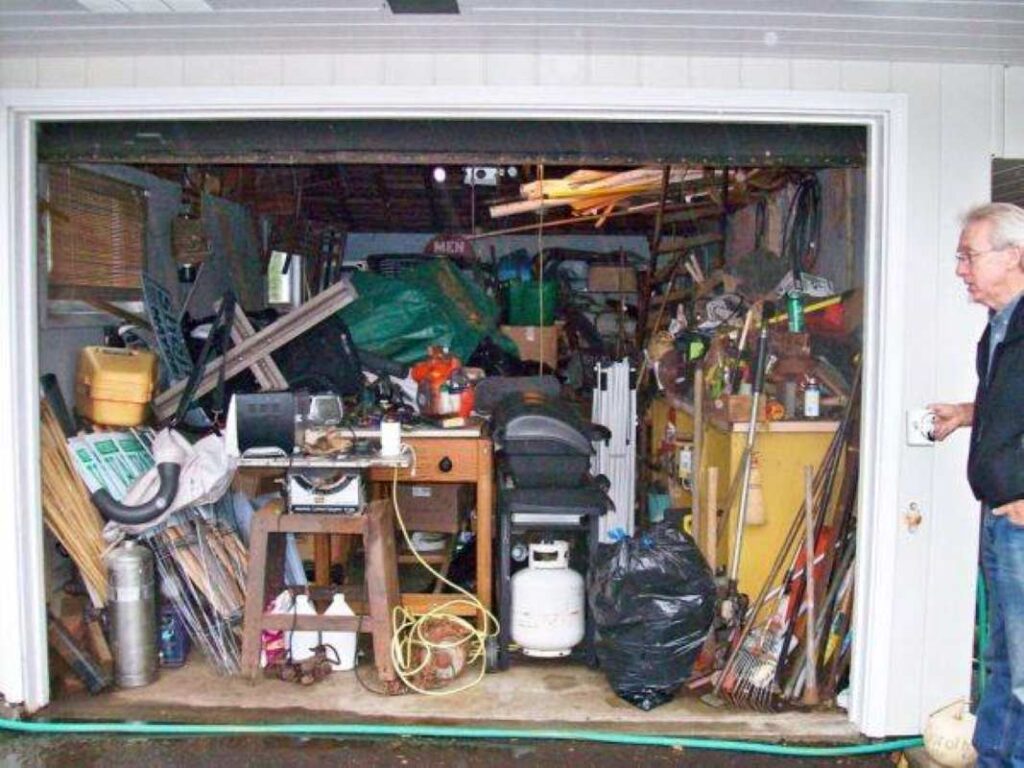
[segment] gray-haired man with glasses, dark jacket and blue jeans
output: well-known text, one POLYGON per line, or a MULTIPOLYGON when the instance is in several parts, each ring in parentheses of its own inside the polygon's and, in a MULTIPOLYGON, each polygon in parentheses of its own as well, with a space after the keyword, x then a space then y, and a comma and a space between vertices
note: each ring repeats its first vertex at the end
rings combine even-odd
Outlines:
POLYGON ((935 439, 972 427, 968 479, 982 503, 991 674, 974 745, 979 766, 1024 768, 1024 209, 993 203, 968 213, 956 275, 989 309, 974 402, 931 406, 935 439))

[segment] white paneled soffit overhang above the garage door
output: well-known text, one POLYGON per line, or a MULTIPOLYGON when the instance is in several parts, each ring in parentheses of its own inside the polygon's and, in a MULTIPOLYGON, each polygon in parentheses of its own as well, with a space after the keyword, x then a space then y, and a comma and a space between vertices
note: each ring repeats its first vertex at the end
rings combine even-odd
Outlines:
POLYGON ((458 0, 458 13, 435 14, 396 13, 384 0, 290 5, 0 0, 0 55, 504 51, 1024 65, 1020 0, 458 0))

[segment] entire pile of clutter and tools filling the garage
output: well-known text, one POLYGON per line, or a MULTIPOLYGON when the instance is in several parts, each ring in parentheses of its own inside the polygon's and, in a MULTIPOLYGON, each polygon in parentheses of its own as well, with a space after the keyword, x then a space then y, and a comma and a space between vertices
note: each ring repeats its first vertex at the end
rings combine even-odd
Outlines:
POLYGON ((206 244, 177 224, 187 293, 146 274, 144 316, 111 309, 131 323, 81 351, 74 414, 43 382, 44 519, 81 603, 52 601, 55 651, 90 691, 195 648, 388 693, 458 693, 521 653, 600 668, 644 710, 835 701, 862 310, 851 264, 819 258, 823 183, 538 167, 489 206, 536 216, 529 237, 365 269, 337 227, 270 217, 254 258, 305 269, 282 311, 242 280, 201 298, 206 244), (646 229, 573 239, 627 216, 646 229))

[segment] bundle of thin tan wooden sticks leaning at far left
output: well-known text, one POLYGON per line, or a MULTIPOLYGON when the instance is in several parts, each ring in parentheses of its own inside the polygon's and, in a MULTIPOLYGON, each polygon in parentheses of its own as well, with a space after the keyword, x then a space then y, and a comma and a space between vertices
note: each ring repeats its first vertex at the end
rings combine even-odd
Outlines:
POLYGON ((45 401, 41 404, 43 520, 82 573, 94 605, 106 601, 103 565, 103 520, 75 469, 60 424, 45 401))

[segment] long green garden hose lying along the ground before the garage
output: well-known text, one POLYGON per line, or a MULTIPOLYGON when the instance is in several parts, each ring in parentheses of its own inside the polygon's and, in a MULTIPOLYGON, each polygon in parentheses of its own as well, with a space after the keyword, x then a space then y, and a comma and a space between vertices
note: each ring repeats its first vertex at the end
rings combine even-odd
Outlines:
POLYGON ((921 746, 920 737, 896 738, 867 744, 802 746, 738 739, 659 736, 589 730, 531 730, 516 728, 473 728, 443 725, 376 725, 372 723, 252 723, 187 724, 95 722, 47 723, 0 719, 0 730, 40 735, 131 735, 131 736, 380 736, 451 739, 526 739, 534 741, 593 741, 627 746, 668 746, 683 750, 740 752, 797 758, 844 758, 880 755, 921 746))

